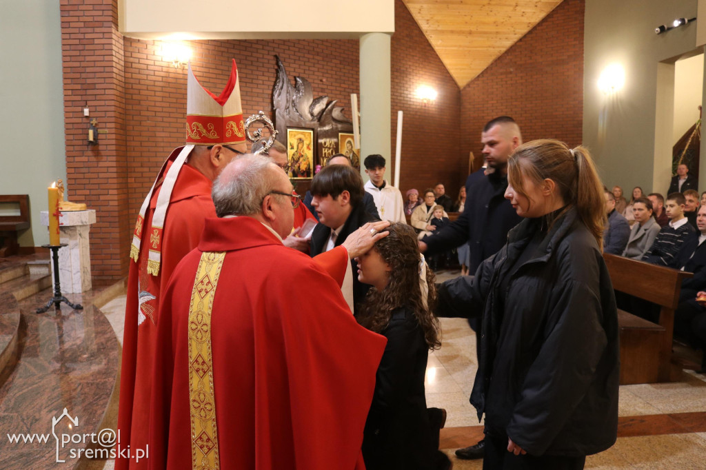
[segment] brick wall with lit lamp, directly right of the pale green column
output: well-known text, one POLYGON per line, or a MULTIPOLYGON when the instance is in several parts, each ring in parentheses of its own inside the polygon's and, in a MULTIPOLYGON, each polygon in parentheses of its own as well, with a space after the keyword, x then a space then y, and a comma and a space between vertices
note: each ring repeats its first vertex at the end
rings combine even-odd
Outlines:
POLYGON ((448 195, 455 199, 468 175, 468 153, 459 147, 460 90, 402 0, 395 0, 391 56, 393 155, 397 111, 404 112, 402 197, 405 198, 404 193, 409 188, 417 188, 421 193, 442 181, 448 195), (419 85, 429 85, 436 90, 436 101, 424 104, 415 97, 419 85))

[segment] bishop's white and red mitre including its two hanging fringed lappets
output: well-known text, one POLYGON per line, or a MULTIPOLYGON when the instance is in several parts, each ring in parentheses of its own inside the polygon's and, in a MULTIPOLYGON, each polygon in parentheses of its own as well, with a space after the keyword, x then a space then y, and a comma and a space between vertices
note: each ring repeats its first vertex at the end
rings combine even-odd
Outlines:
POLYGON ((181 166, 186 162, 189 153, 195 145, 234 145, 245 143, 245 131, 243 123, 243 109, 240 102, 240 82, 238 78, 238 67, 233 59, 233 66, 230 71, 228 83, 220 96, 214 95, 198 83, 191 71, 189 63, 189 75, 186 93, 186 145, 172 151, 167 161, 162 165, 162 169, 152 189, 147 194, 145 201, 140 208, 135 230, 133 231, 133 242, 130 247, 130 257, 138 263, 140 255, 140 244, 143 238, 150 243, 150 255, 147 263, 147 272, 157 276, 160 272, 162 260, 162 229, 164 227, 164 217, 167 215, 167 207, 172 196, 174 183, 181 166), (172 161, 169 171, 165 171, 167 164, 172 161), (162 181, 163 179, 163 181, 162 181), (155 191, 157 183, 162 181, 162 189, 157 197, 157 206, 152 216, 152 226, 144 227, 145 214, 150 207, 152 193, 155 191))

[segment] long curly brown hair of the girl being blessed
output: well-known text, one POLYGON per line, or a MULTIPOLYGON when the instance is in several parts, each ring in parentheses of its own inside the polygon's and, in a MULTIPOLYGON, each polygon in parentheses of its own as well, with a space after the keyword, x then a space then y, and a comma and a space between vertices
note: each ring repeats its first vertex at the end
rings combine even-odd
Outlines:
POLYGON ((379 333, 390 323, 390 317, 395 308, 408 306, 414 311, 419 321, 424 339, 429 349, 441 347, 441 329, 438 319, 433 314, 436 302, 436 277, 429 267, 426 268, 426 282, 429 294, 426 306, 421 297, 419 287, 419 245, 417 234, 407 224, 395 223, 388 228, 390 234, 380 239, 373 250, 390 265, 390 282, 383 291, 375 287, 370 289, 366 301, 358 315, 358 322, 367 329, 379 333))

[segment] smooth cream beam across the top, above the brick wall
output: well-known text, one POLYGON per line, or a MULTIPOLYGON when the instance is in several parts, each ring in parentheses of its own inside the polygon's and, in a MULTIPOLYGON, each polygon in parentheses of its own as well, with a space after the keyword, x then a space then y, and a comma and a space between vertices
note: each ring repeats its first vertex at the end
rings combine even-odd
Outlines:
POLYGON ((118 6, 120 32, 144 39, 333 39, 395 31, 393 0, 119 0, 118 6))

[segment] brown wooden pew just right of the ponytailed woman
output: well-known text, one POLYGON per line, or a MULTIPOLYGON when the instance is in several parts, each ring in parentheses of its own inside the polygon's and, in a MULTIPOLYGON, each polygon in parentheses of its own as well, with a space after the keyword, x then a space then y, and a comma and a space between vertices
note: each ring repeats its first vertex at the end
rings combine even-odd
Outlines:
POLYGON ((660 306, 659 325, 626 311, 618 311, 621 341, 621 385, 671 380, 674 310, 679 302, 683 272, 604 253, 616 291, 660 306))

